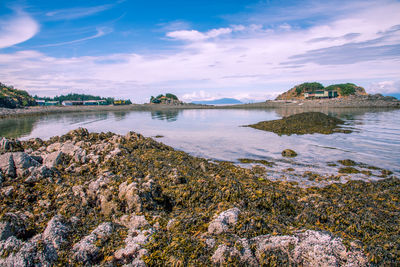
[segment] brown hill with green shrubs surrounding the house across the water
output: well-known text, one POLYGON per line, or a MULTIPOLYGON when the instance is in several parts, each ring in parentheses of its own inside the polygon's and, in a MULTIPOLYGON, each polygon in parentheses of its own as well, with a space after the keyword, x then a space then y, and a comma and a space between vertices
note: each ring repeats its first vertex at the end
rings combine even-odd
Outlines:
POLYGON ((304 93, 316 91, 331 91, 337 92, 337 97, 347 97, 350 95, 368 95, 365 89, 361 86, 357 86, 353 83, 342 83, 342 84, 332 84, 327 87, 324 87, 322 84, 318 82, 311 83, 302 83, 300 85, 296 85, 289 91, 280 94, 276 100, 295 100, 295 99, 305 99, 304 93))

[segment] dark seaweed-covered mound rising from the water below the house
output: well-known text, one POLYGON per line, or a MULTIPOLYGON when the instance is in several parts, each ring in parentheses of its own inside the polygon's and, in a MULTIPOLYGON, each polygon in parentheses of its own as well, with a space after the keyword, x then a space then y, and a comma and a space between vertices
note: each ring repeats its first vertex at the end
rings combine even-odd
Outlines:
POLYGON ((248 126, 278 135, 350 133, 351 130, 339 127, 343 123, 344 121, 321 112, 304 112, 280 120, 262 121, 248 126))

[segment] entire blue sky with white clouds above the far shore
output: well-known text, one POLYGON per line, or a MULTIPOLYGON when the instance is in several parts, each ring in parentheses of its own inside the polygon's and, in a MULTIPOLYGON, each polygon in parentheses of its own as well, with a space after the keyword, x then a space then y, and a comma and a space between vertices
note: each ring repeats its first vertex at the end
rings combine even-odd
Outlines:
POLYGON ((1 0, 0 82, 38 96, 400 94, 400 1, 1 0))

